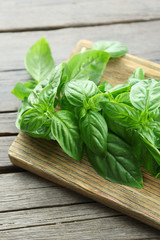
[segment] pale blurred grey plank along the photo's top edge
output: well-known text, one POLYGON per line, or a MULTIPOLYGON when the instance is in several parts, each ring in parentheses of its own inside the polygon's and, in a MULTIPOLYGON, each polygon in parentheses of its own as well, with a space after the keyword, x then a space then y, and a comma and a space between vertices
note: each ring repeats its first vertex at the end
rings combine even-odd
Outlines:
POLYGON ((158 0, 6 0, 1 1, 0 9, 0 31, 55 29, 160 18, 158 0))

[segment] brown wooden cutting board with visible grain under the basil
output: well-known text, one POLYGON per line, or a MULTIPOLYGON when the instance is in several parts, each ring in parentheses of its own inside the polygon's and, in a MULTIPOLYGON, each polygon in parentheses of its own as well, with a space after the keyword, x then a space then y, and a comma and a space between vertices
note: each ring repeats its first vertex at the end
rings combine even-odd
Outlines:
MULTIPOLYGON (((91 45, 92 42, 82 40, 71 55, 91 45)), ((102 80, 112 85, 123 83, 139 66, 147 77, 160 79, 160 65, 127 54, 109 61, 102 80)), ((57 142, 32 138, 22 132, 11 145, 9 157, 19 167, 160 229, 160 179, 146 171, 143 189, 111 183, 99 176, 85 157, 79 163, 67 156, 57 142)))

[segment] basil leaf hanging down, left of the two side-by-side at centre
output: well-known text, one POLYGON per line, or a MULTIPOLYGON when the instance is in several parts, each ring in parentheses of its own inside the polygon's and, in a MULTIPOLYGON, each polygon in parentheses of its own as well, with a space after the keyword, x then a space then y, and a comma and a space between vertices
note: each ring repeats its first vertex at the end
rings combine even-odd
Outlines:
POLYGON ((51 131, 61 148, 72 158, 80 161, 83 143, 74 114, 61 110, 53 115, 51 131))

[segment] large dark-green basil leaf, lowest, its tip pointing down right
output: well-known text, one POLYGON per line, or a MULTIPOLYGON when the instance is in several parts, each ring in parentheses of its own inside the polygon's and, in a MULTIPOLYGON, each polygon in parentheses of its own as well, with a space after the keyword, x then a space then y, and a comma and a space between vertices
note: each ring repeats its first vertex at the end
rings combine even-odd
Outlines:
POLYGON ((112 133, 108 134, 107 147, 108 152, 105 157, 96 155, 87 149, 89 162, 97 173, 111 182, 142 188, 140 162, 135 157, 132 148, 112 133))

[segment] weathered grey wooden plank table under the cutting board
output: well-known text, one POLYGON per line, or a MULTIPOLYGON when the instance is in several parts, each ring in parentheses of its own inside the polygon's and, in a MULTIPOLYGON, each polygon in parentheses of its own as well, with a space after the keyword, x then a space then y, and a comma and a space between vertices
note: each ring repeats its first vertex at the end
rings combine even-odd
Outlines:
POLYGON ((160 63, 160 1, 0 1, 0 239, 160 239, 158 230, 10 163, 20 104, 10 91, 29 79, 24 55, 42 36, 56 63, 80 39, 119 40, 160 63))

